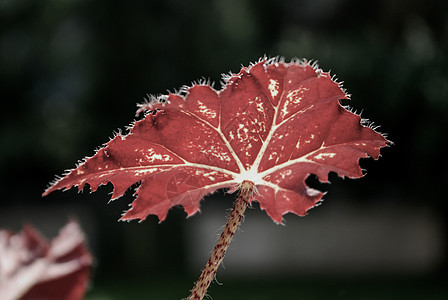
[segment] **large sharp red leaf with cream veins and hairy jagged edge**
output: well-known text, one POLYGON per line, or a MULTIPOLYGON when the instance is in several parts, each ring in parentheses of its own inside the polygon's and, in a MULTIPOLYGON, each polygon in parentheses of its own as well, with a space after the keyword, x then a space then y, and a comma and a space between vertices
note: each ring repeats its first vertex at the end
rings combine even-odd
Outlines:
POLYGON ((182 205, 188 216, 206 194, 256 184, 260 203, 276 222, 305 215, 323 193, 307 187, 315 174, 359 178, 360 158, 379 157, 388 141, 339 103, 348 99, 328 73, 307 62, 261 60, 232 74, 221 91, 195 84, 140 105, 144 119, 56 181, 44 195, 86 183, 111 182, 112 199, 141 182, 122 220, 162 221, 182 205))

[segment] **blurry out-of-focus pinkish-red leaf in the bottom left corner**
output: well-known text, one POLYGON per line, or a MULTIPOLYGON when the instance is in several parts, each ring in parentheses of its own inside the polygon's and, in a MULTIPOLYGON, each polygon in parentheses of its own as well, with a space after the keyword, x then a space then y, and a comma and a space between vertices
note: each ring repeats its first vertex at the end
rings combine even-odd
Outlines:
POLYGON ((4 300, 79 300, 92 258, 74 221, 50 243, 31 226, 12 234, 0 230, 0 295, 4 300))

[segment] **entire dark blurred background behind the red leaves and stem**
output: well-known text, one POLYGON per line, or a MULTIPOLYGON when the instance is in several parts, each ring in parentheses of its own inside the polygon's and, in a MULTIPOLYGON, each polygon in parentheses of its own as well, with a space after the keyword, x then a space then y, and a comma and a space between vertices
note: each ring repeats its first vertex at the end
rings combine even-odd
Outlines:
POLYGON ((274 224, 255 205, 213 299, 446 299, 448 2, 0 0, 0 228, 48 237, 69 217, 96 265, 86 299, 188 296, 234 197, 185 219, 117 222, 132 192, 41 198, 55 175, 135 119, 136 103, 200 78, 220 88, 263 55, 318 60, 395 144, 367 176, 274 224))

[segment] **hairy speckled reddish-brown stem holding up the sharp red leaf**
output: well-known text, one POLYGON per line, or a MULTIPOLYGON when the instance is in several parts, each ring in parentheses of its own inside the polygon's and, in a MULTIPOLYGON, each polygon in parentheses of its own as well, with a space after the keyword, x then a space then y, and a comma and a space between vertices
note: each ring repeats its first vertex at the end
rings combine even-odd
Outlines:
POLYGON ((250 181, 243 181, 241 184, 238 199, 227 220, 224 231, 221 233, 218 243, 216 244, 215 249, 213 249, 213 253, 202 270, 201 276, 196 282, 188 300, 201 300, 207 293, 208 287, 216 275, 216 271, 226 254, 227 248, 229 247, 236 230, 240 226, 244 211, 247 208, 254 189, 255 186, 250 181))

